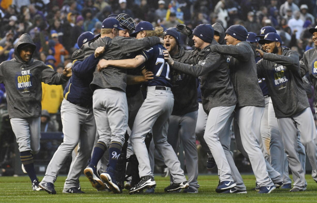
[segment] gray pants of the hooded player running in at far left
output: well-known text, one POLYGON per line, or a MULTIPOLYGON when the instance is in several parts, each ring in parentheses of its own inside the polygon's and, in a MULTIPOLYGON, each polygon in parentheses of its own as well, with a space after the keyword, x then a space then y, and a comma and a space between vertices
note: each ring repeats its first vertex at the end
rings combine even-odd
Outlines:
POLYGON ((19 152, 31 151, 37 154, 40 151, 41 117, 11 118, 11 127, 16 135, 19 152))

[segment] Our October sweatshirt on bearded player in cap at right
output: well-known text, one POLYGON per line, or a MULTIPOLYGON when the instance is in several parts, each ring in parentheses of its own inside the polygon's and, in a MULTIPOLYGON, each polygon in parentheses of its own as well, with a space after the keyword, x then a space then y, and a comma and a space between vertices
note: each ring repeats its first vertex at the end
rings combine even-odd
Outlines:
POLYGON ((282 55, 264 53, 256 67, 258 76, 266 79, 277 118, 292 117, 309 107, 296 51, 282 47, 282 55))

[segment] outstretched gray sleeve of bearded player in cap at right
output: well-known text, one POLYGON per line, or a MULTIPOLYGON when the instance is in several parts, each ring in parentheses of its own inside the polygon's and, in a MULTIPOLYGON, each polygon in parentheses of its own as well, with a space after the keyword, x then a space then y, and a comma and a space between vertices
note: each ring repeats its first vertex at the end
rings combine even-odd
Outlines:
POLYGON ((288 51, 287 55, 279 55, 273 53, 264 53, 263 59, 268 61, 273 61, 277 64, 288 67, 290 70, 299 71, 298 63, 299 63, 299 55, 297 51, 288 51))

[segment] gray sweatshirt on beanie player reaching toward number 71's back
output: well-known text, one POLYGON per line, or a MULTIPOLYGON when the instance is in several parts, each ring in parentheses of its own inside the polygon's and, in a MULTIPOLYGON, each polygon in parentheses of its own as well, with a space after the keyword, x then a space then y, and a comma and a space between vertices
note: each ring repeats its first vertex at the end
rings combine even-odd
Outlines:
POLYGON ((194 77, 200 76, 202 103, 207 114, 212 108, 233 106, 237 103, 225 56, 212 52, 210 47, 213 45, 218 43, 212 40, 211 44, 202 50, 192 51, 186 63, 193 65, 175 61, 172 66, 173 69, 194 77))

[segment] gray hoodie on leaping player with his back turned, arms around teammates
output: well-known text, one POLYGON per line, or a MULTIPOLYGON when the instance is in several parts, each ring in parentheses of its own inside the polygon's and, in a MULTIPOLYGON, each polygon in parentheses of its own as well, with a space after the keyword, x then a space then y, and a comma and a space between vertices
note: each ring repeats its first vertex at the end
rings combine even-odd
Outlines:
MULTIPOLYGON (((79 50, 76 50, 72 59, 84 60, 94 53, 95 49, 104 46, 106 51, 101 58, 106 60, 119 60, 131 58, 130 53, 139 51, 146 47, 151 47, 159 43, 159 37, 145 37, 143 39, 133 39, 117 36, 113 39, 109 37, 98 38, 94 42, 87 42, 79 50)), ((117 67, 108 67, 101 72, 94 71, 94 79, 90 88, 94 91, 96 88, 119 88, 126 91, 126 69, 117 67)))

